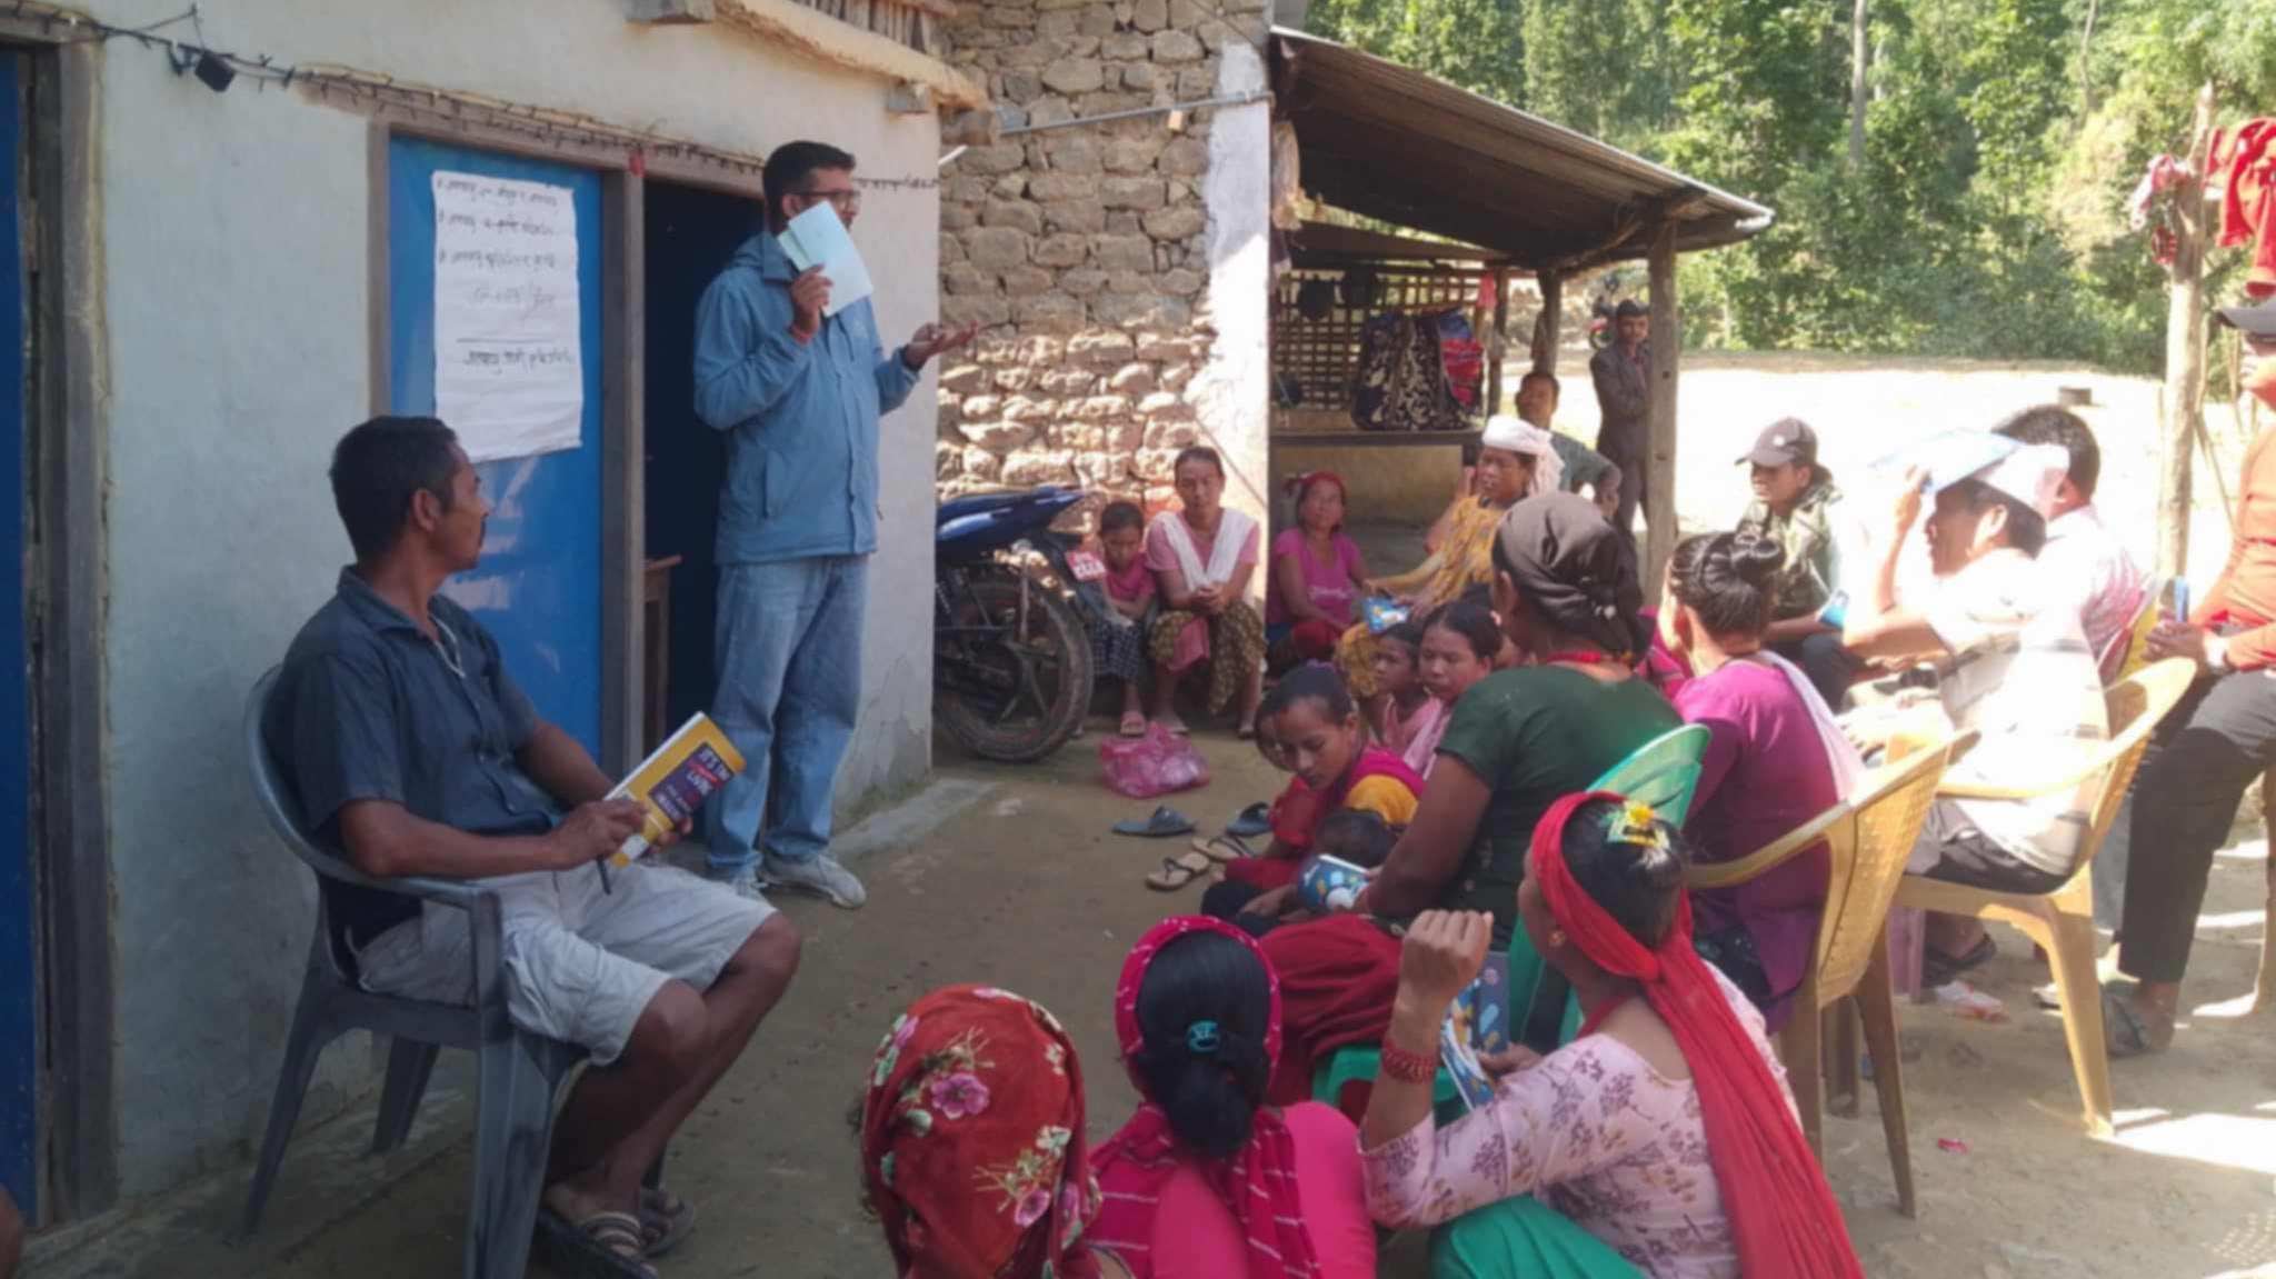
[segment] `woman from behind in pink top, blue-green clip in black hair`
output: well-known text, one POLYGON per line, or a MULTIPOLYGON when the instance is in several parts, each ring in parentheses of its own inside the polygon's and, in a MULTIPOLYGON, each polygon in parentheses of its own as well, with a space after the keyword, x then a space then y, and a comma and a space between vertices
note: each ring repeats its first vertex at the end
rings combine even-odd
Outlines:
POLYGON ((1145 1104, 1092 1158, 1097 1249, 1136 1279, 1372 1279, 1352 1120, 1263 1104, 1279 983, 1247 933, 1156 924, 1122 963, 1115 1035, 1145 1104))

